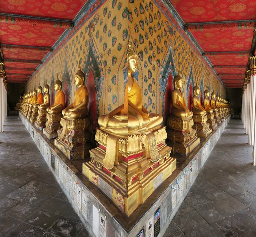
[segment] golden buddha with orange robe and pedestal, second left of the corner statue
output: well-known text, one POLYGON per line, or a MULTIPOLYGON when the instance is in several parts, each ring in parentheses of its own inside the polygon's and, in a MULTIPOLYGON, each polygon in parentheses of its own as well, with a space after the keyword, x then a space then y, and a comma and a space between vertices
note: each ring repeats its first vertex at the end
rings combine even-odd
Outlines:
POLYGON ((54 104, 46 108, 47 122, 43 133, 48 139, 56 138, 58 136, 57 130, 60 129, 60 119, 62 117, 62 110, 65 108, 65 94, 61 90, 62 83, 59 81, 58 74, 54 83, 54 89, 57 92, 54 97, 54 104))

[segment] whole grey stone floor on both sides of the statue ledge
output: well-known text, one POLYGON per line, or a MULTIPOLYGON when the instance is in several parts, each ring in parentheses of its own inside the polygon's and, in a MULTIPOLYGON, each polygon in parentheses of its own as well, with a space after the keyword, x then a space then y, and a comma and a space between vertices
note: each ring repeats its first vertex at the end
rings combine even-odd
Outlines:
MULTIPOLYGON (((0 133, 0 237, 89 236, 18 117, 0 133)), ((256 167, 231 120, 165 237, 256 236, 256 167)))

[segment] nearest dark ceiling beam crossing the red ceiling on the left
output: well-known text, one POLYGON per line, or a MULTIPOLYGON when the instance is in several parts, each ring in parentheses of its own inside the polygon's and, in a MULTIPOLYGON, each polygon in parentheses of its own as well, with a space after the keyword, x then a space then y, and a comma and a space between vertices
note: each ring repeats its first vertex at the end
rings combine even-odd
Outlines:
POLYGON ((14 22, 43 24, 45 26, 48 25, 48 26, 54 26, 54 27, 64 28, 64 29, 72 28, 74 26, 74 22, 72 20, 0 13, 0 23, 13 24, 14 22))

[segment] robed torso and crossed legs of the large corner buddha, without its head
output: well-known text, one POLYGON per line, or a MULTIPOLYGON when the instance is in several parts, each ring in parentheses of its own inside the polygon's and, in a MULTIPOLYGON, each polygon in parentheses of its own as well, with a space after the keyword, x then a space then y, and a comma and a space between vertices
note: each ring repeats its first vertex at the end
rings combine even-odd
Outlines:
POLYGON ((106 116, 100 116, 98 123, 102 130, 119 136, 128 136, 128 134, 143 133, 161 127, 163 121, 161 115, 148 115, 142 110, 142 92, 135 79, 130 91, 128 91, 128 84, 126 85, 122 107, 119 114, 109 118, 106 127, 103 125, 106 116))

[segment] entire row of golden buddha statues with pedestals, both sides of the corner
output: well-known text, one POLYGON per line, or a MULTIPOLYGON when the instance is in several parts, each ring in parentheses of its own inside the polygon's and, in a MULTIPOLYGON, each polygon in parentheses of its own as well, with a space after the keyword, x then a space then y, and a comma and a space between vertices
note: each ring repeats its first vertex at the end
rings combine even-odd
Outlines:
POLYGON ((130 41, 126 56, 128 80, 124 104, 98 118, 97 147, 93 148, 90 143, 89 93, 80 63, 74 76, 74 83, 78 86, 74 103, 65 108, 65 95, 57 76, 53 105, 50 105, 46 83, 44 95, 39 85, 37 91, 32 90, 22 97, 20 111, 39 130, 43 129, 48 139, 55 138, 55 146, 67 158, 85 159, 83 174, 103 192, 108 190, 107 195, 113 203, 130 216, 153 193, 159 180, 163 182, 176 169, 176 158, 171 157, 172 149, 189 154, 199 144, 199 138, 209 136, 228 116, 229 108, 227 101, 214 92, 209 100, 208 90, 201 105, 200 88, 195 86, 192 111, 189 111, 182 96, 183 79, 178 74, 174 77, 171 114, 165 128, 163 117, 149 113, 143 106, 142 91, 133 76, 139 57, 130 41), (88 155, 90 159, 86 160, 88 155), (108 186, 109 189, 106 188, 108 186))

